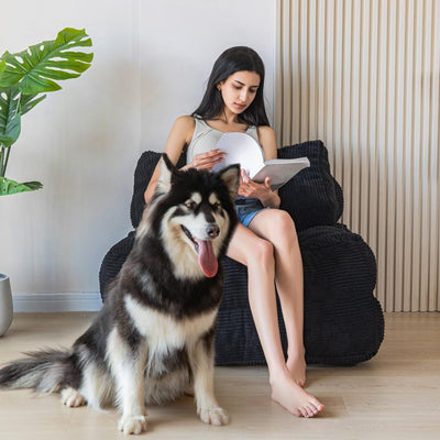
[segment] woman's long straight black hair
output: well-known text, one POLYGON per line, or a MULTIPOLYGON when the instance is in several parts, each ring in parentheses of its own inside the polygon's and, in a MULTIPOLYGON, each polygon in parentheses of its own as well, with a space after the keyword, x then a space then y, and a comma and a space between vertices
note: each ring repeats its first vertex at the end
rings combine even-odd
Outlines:
POLYGON ((243 70, 255 72, 260 76, 260 87, 256 89, 251 106, 239 116, 239 120, 249 125, 270 125, 263 98, 264 64, 260 55, 246 46, 230 47, 217 58, 204 99, 191 117, 205 120, 218 119, 224 111, 223 98, 217 88, 218 84, 227 80, 235 72, 243 70))

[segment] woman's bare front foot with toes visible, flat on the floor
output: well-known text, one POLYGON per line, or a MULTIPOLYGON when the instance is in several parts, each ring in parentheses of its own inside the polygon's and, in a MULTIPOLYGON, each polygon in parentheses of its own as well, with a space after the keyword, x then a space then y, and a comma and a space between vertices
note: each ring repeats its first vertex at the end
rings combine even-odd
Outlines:
POLYGON ((290 375, 278 375, 271 380, 272 399, 297 417, 314 417, 324 406, 311 394, 302 389, 290 375))

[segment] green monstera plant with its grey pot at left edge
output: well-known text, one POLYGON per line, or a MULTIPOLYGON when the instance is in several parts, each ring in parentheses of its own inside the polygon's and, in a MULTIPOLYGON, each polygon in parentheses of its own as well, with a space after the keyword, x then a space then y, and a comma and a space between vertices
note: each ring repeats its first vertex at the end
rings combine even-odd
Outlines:
MULTIPOLYGON (((0 196, 33 191, 43 187, 40 182, 18 183, 6 177, 12 146, 20 136, 21 119, 46 98, 45 94, 61 89, 56 81, 77 78, 90 67, 94 54, 82 50, 89 46, 91 40, 85 30, 66 28, 55 40, 44 41, 15 54, 7 51, 1 56, 0 196)), ((0 280, 9 283, 6 275, 2 275, 0 280)), ((12 310, 9 312, 4 309, 12 307, 10 288, 4 287, 1 292, 0 320, 3 316, 9 317, 12 314, 12 310), (9 295, 3 294, 3 290, 9 292, 9 295)))

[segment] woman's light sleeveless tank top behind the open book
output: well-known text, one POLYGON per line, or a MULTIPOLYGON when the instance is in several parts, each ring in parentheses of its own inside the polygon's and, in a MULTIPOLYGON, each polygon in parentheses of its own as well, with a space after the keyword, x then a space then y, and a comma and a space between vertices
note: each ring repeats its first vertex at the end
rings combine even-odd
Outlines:
MULTIPOLYGON (((194 134, 190 144, 186 151, 186 163, 193 162, 196 154, 206 153, 216 147, 217 142, 219 142, 222 131, 212 129, 202 119, 195 118, 196 128, 194 129, 194 134)), ((245 131, 251 138, 253 138, 256 143, 258 142, 258 134, 256 132, 255 125, 250 125, 245 131)))

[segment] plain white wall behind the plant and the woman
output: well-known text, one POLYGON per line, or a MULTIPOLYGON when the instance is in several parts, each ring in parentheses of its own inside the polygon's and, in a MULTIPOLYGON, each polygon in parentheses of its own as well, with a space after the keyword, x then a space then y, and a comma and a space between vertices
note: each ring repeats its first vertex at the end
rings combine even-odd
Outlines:
POLYGON ((65 26, 86 29, 95 59, 23 117, 12 146, 7 176, 44 184, 0 198, 0 272, 15 295, 98 292, 103 255, 131 230, 139 155, 163 150, 224 48, 261 54, 273 120, 275 1, 15 0, 2 8, 0 52, 65 26))

